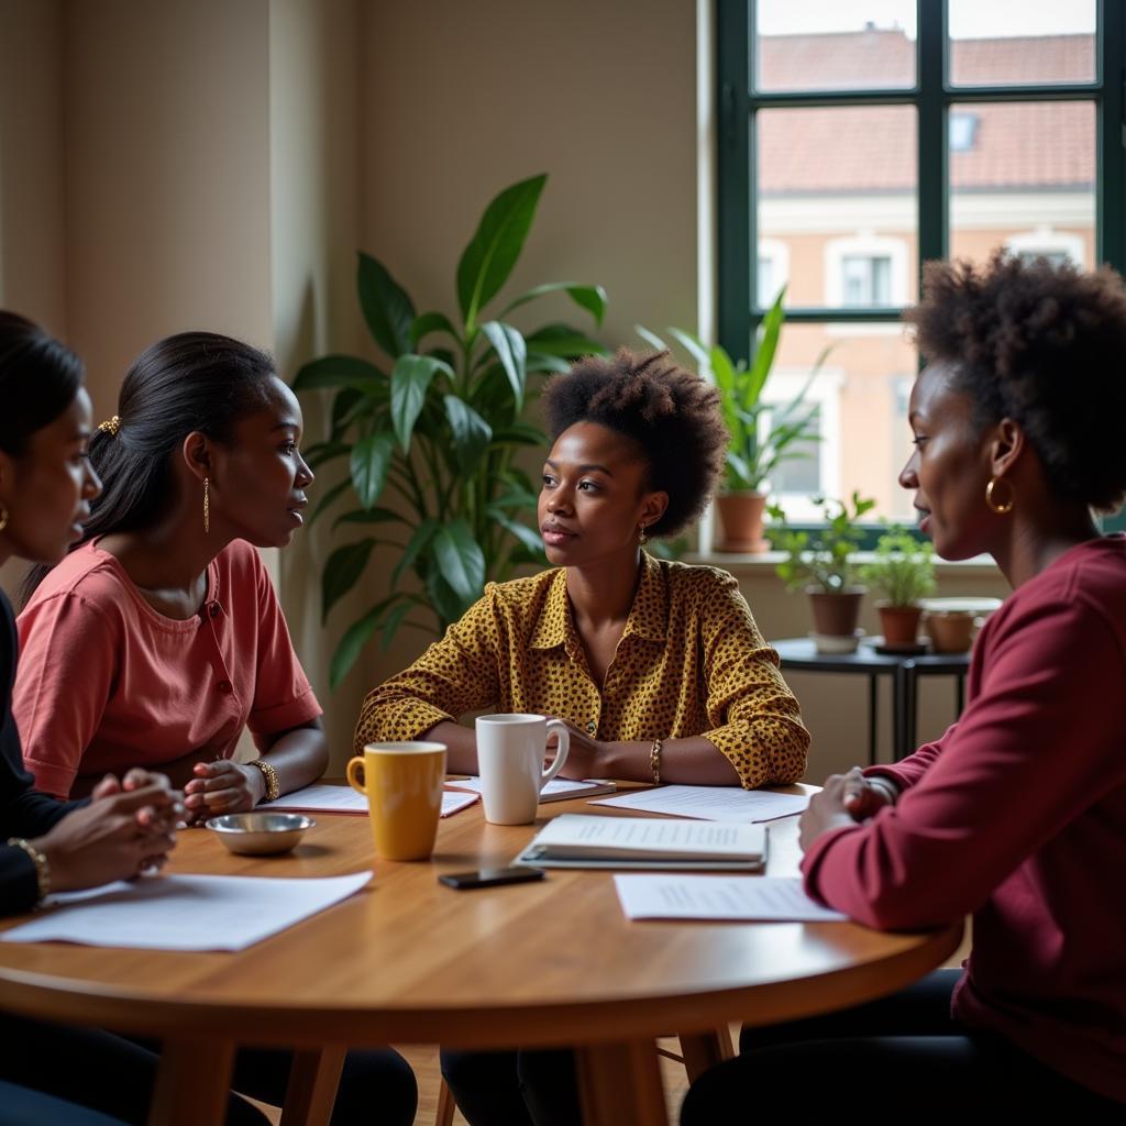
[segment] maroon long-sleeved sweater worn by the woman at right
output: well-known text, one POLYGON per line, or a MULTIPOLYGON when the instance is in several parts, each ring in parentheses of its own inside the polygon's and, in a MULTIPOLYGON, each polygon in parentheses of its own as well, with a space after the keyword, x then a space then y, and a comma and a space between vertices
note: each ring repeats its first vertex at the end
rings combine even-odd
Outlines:
POLYGON ((954 1016, 1126 1101, 1126 538, 1016 590, 958 723, 866 772, 903 794, 813 844, 807 891, 885 930, 972 913, 954 1016))

